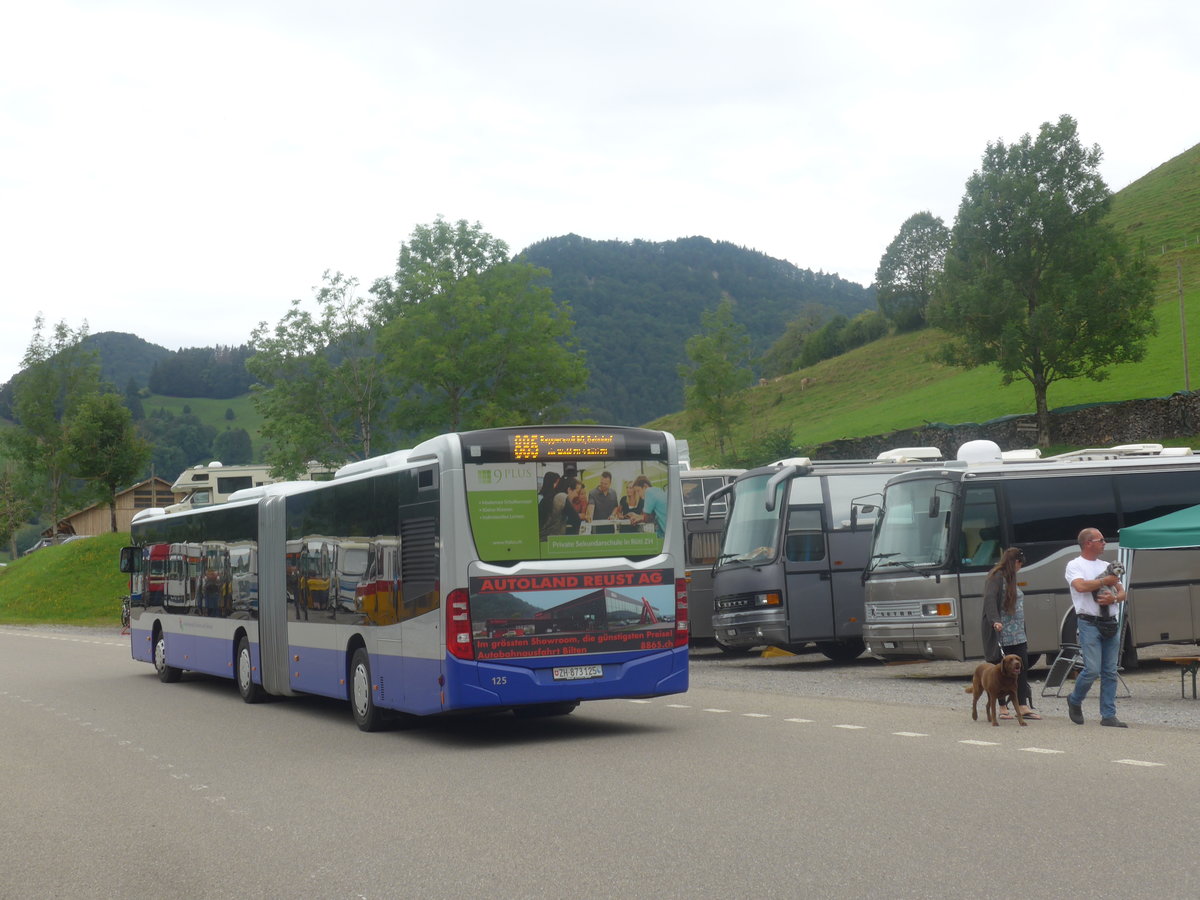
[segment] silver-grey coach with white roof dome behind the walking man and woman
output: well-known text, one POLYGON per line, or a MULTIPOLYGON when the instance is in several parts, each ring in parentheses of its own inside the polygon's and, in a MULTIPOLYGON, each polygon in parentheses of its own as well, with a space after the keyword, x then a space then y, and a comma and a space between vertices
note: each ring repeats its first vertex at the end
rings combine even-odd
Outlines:
MULTIPOLYGON (((1064 569, 1076 538, 1099 528, 1116 559, 1118 529, 1200 503, 1200 456, 1184 448, 1127 444, 1045 460, 1002 461, 991 442, 959 458, 898 475, 887 485, 866 572, 868 650, 880 659, 967 660, 983 655, 988 571, 1006 547, 1026 563, 1030 659, 1076 643, 1064 569)), ((1139 551, 1123 605, 1122 656, 1200 637, 1200 553, 1139 551)))

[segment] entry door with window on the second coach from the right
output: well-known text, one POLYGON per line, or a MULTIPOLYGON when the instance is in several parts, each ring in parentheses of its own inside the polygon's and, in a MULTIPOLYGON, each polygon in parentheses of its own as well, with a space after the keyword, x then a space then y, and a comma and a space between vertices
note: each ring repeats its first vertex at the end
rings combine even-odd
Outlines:
POLYGON ((793 644, 835 636, 824 506, 791 506, 784 535, 787 634, 793 644))

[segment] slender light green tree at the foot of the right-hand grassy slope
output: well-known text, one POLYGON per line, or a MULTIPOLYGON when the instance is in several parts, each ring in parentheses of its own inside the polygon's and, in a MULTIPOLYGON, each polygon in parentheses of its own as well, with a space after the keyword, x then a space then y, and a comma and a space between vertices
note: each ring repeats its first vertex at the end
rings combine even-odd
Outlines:
POLYGON ((690 365, 679 366, 688 416, 707 431, 722 457, 734 454, 733 425, 738 391, 749 386, 750 337, 733 319, 733 302, 725 298, 701 316, 702 331, 688 338, 690 365))

